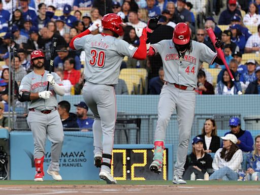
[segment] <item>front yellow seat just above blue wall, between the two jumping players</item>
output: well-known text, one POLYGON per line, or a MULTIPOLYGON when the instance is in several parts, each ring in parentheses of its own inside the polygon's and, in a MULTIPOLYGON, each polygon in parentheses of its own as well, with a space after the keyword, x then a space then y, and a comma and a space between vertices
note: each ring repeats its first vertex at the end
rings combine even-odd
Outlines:
POLYGON ((140 94, 141 90, 141 79, 137 75, 119 75, 119 79, 123 79, 127 85, 128 94, 140 94))

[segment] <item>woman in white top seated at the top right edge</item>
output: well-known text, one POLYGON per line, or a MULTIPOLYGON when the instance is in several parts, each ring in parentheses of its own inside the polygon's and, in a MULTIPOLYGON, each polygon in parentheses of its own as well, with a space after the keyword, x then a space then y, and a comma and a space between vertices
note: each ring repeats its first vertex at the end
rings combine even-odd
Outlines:
POLYGON ((254 26, 257 26, 260 24, 259 10, 255 3, 251 3, 249 5, 249 11, 243 17, 243 23, 245 25, 254 25, 254 26))

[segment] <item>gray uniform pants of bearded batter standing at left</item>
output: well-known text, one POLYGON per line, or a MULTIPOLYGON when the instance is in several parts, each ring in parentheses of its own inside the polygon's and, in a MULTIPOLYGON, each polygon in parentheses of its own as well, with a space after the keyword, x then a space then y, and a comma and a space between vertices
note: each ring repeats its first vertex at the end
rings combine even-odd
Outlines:
POLYGON ((50 171, 59 171, 59 157, 63 144, 63 127, 57 110, 49 114, 43 114, 40 111, 29 111, 27 123, 34 138, 34 158, 41 158, 45 155, 46 139, 51 144, 51 163, 50 171))

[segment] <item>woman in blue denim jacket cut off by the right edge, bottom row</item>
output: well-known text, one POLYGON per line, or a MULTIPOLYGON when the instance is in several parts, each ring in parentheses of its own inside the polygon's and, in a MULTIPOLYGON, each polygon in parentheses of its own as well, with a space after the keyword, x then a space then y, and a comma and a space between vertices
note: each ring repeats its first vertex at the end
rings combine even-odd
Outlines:
POLYGON ((260 181, 260 135, 257 135, 254 140, 254 150, 247 154, 247 179, 260 181))

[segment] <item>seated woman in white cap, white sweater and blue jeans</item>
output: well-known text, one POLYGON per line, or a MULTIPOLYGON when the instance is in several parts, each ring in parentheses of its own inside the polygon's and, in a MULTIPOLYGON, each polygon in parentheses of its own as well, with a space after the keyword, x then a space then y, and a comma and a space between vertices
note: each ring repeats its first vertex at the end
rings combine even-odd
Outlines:
POLYGON ((237 171, 241 169, 243 161, 242 150, 236 145, 238 139, 233 134, 227 134, 221 137, 223 148, 219 148, 214 156, 212 163, 213 174, 210 180, 238 180, 237 171))

